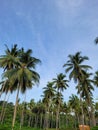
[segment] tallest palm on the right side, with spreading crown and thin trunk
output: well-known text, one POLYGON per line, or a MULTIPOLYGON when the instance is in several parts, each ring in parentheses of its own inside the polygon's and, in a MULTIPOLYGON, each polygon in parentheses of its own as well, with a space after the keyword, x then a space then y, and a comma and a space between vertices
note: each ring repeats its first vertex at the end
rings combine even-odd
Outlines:
POLYGON ((84 65, 83 62, 85 60, 88 60, 88 57, 81 56, 81 52, 77 52, 75 55, 69 55, 69 60, 66 64, 63 65, 63 67, 67 67, 65 69, 65 72, 70 72, 69 79, 73 79, 75 83, 78 83, 78 91, 80 94, 80 106, 82 111, 82 124, 84 125, 84 114, 83 114, 83 108, 82 108, 82 95, 80 93, 80 83, 83 82, 84 76, 89 68, 91 68, 88 65, 84 65))

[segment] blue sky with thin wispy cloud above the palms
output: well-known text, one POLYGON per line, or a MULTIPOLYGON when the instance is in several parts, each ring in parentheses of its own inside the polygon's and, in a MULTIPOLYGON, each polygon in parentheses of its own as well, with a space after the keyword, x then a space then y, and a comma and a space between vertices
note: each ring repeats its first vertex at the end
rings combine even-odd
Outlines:
MULTIPOLYGON (((4 44, 11 47, 16 43, 19 48, 32 49, 42 61, 36 69, 41 76, 39 87, 27 91, 27 101, 38 101, 47 82, 64 73, 62 66, 69 54, 81 51, 89 57, 85 63, 93 67, 92 72, 98 70, 98 46, 94 45, 97 36, 98 0, 0 0, 0 55, 4 44)), ((70 82, 64 100, 76 94, 74 88, 70 82)), ((97 93, 95 88, 94 99, 97 93)), ((14 100, 15 93, 10 97, 14 100)))

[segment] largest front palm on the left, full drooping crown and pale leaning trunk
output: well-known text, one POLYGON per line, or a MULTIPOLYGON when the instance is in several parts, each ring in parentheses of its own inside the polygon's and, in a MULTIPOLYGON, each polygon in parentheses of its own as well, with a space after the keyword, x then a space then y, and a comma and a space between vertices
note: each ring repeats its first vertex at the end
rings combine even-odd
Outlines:
MULTIPOLYGON (((39 74, 34 71, 36 63, 38 63, 38 59, 34 57, 27 56, 28 50, 26 53, 22 53, 20 56, 20 62, 18 64, 18 67, 14 70, 10 71, 9 74, 12 76, 10 77, 10 81, 14 81, 14 83, 17 83, 17 98, 16 98, 16 107, 17 107, 17 99, 19 95, 19 90, 24 93, 26 89, 31 89, 32 86, 35 85, 35 83, 39 82, 39 74)), ((29 53, 31 54, 31 53, 29 53)), ((14 111, 14 118, 13 118, 13 127, 15 123, 16 118, 16 108, 14 111)))

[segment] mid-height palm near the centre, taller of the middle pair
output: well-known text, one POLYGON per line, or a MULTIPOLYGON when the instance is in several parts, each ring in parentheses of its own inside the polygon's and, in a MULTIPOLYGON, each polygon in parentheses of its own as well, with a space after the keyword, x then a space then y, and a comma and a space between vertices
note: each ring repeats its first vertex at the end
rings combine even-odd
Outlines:
MULTIPOLYGON (((62 73, 57 75, 57 78, 53 78, 54 87, 57 89, 58 94, 62 94, 64 89, 68 87, 68 80, 65 79, 66 76, 62 73)), ((60 101, 58 102, 58 110, 57 110, 57 117, 56 117, 56 130, 58 129, 58 121, 59 121, 59 111, 60 111, 60 101)))

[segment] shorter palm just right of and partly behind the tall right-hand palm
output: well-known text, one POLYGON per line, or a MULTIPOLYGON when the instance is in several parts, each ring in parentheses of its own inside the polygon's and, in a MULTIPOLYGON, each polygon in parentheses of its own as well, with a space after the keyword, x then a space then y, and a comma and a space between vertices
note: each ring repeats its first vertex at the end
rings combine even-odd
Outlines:
POLYGON ((94 91, 94 87, 93 87, 94 81, 92 79, 90 79, 91 75, 92 74, 89 74, 89 73, 87 73, 85 75, 85 79, 81 84, 80 91, 81 91, 81 95, 82 95, 83 99, 85 99, 85 101, 88 103, 88 106, 91 108, 90 124, 91 124, 91 126, 95 126, 96 123, 95 123, 94 106, 93 106, 93 98, 92 98, 93 97, 92 91, 94 91))

